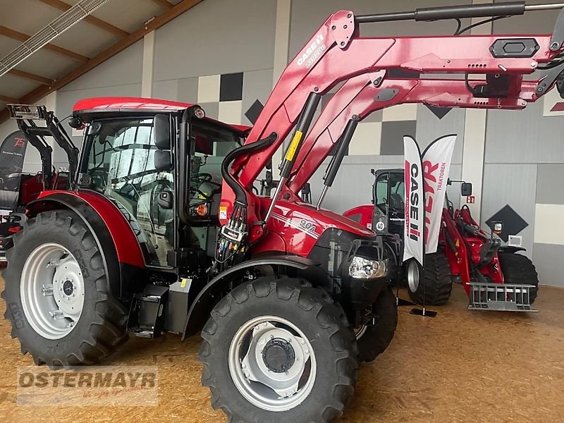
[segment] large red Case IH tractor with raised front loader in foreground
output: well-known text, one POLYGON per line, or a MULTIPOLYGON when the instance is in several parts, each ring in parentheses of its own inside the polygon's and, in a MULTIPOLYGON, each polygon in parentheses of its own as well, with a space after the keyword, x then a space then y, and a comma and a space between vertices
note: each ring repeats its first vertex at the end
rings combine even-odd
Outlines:
POLYGON ((563 13, 552 35, 365 38, 360 26, 556 7, 338 11, 288 64, 250 130, 205 118, 197 105, 78 102, 77 171, 68 190, 27 204, 8 251, 3 297, 22 352, 37 364, 92 364, 128 331, 202 330, 202 384, 229 421, 332 421, 353 396, 357 363, 391 342, 396 300, 381 238, 303 204, 300 188, 338 144, 326 192, 372 111, 405 102, 522 109, 555 85, 564 92, 563 13), (388 78, 392 68, 485 79, 388 78), (537 68, 551 72, 523 80, 537 68), (290 130, 273 198, 259 197, 252 183, 290 130))

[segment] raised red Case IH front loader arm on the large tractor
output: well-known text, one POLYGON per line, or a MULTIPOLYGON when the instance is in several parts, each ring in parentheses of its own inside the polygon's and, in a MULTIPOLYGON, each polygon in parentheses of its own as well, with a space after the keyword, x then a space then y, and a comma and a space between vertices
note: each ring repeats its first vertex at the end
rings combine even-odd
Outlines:
POLYGON ((564 85, 560 78, 563 73, 559 72, 537 82, 522 81, 522 75, 533 73, 539 64, 564 68, 564 61, 560 61, 564 56, 563 12, 553 35, 363 38, 361 23, 511 16, 522 14, 527 8, 562 6, 513 2, 357 17, 351 11, 339 11, 330 16, 290 61, 250 131, 245 146, 257 143, 262 147, 249 154, 236 154, 232 163, 226 164, 226 168, 230 166, 230 183, 223 184, 220 221, 227 228, 223 232, 226 237, 218 245, 228 245, 230 249, 234 245, 237 250, 246 243, 241 241, 243 238, 247 237, 250 243, 260 238, 278 197, 297 199, 295 193, 319 167, 333 144, 345 137, 343 133, 350 141, 355 128, 351 121, 360 121, 372 111, 407 102, 522 109, 556 83, 559 89, 564 85), (466 75, 466 80, 387 78, 387 71, 392 69, 458 73, 466 75), (486 80, 467 80, 468 74, 486 75, 486 80), (321 96, 343 81, 346 82, 341 90, 309 130, 321 96), (252 183, 294 127, 281 166, 281 183, 265 213, 252 193, 252 183), (265 142, 268 138, 270 141, 265 142), (236 212, 231 213, 232 210, 236 212), (233 233, 238 236, 234 238, 233 233))

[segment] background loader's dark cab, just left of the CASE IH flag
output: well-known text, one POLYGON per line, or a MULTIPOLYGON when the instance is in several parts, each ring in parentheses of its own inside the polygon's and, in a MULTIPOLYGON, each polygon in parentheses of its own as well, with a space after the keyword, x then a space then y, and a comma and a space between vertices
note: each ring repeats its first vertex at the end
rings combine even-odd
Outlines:
POLYGON ((374 217, 372 230, 376 233, 394 233, 403 238, 405 221, 405 181, 403 169, 374 171, 372 203, 374 217))

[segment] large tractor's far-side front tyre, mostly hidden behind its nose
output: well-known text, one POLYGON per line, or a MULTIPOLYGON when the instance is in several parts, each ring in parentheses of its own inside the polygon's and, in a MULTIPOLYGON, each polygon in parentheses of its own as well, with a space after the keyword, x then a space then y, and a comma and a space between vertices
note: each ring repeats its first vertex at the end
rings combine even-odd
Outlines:
POLYGON ((396 295, 388 286, 382 290, 372 306, 372 324, 363 325, 356 331, 358 360, 372 362, 390 345, 398 326, 396 295))

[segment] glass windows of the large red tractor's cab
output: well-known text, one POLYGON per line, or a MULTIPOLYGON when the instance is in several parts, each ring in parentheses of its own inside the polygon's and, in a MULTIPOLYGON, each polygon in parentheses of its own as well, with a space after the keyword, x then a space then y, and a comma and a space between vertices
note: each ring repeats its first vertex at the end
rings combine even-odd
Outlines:
MULTIPOLYGON (((87 137, 82 173, 90 176, 90 189, 116 202, 141 231, 138 238, 149 259, 147 264, 166 266, 166 253, 174 244, 174 212, 159 206, 161 191, 174 192, 174 171, 154 166, 153 118, 118 118, 94 121, 87 137)), ((190 204, 220 195, 220 165, 240 139, 222 127, 200 121, 192 125, 190 204)), ((219 203, 219 201, 218 201, 219 203)), ((209 201, 207 201, 209 204, 209 201)), ((195 228, 192 247, 205 248, 207 231, 195 228)))

